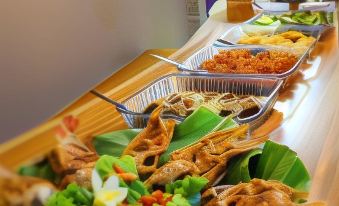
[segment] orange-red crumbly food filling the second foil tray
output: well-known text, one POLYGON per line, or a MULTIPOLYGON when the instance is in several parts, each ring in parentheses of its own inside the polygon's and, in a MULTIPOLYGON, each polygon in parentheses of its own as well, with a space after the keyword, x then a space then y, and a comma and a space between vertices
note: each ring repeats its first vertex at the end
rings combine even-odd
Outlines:
MULTIPOLYGON (((282 37, 281 37, 282 38, 282 37)), ((267 39, 265 44, 273 44, 267 39)), ((201 67, 209 72, 236 74, 281 74, 297 62, 296 55, 285 51, 263 51, 252 55, 249 49, 221 50, 201 67)))

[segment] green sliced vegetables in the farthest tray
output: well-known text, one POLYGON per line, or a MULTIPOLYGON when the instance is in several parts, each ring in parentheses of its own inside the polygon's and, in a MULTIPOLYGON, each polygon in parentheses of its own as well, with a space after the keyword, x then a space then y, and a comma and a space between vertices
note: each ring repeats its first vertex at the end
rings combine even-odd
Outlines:
POLYGON ((299 11, 282 15, 262 15, 253 24, 272 25, 276 21, 283 24, 333 25, 333 12, 299 11))

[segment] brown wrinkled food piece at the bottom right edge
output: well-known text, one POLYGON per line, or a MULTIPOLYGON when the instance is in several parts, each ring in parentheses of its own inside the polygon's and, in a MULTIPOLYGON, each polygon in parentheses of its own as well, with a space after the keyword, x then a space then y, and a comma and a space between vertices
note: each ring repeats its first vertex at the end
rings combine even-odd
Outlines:
POLYGON ((202 203, 206 206, 293 206, 293 201, 306 198, 307 193, 297 192, 293 188, 275 180, 252 179, 249 183, 235 186, 219 186, 210 188, 202 195, 202 203))

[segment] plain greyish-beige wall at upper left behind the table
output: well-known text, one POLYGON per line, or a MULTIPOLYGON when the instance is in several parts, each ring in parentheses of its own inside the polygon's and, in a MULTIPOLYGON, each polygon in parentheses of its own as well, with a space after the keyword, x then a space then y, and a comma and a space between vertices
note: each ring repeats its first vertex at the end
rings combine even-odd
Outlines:
POLYGON ((188 39, 184 0, 2 0, 0 140, 30 129, 148 48, 188 39))

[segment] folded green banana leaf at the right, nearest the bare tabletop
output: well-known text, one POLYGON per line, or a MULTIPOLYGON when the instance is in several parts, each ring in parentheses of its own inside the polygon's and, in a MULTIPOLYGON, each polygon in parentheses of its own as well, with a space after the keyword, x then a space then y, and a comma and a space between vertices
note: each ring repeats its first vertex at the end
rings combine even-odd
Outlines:
POLYGON ((285 145, 267 141, 230 162, 223 183, 249 182, 252 178, 278 180, 294 189, 308 191, 311 177, 297 154, 285 145))

